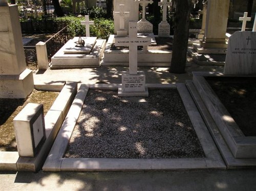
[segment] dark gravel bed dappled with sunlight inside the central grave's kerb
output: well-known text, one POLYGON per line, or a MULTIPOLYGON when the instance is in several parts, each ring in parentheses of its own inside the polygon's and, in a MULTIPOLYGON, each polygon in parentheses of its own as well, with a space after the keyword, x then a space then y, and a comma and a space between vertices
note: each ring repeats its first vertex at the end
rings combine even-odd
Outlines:
POLYGON ((150 90, 146 102, 90 89, 65 157, 205 157, 176 89, 150 90))

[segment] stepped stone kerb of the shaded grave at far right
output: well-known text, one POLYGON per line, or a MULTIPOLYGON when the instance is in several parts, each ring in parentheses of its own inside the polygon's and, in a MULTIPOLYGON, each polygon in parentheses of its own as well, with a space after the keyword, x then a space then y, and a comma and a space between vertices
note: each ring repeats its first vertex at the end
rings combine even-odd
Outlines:
MULTIPOLYGON (((212 134, 212 137, 214 138, 216 145, 218 146, 228 169, 233 168, 241 168, 246 166, 256 166, 256 160, 255 158, 245 158, 245 157, 234 157, 235 154, 237 154, 237 151, 239 148, 241 152, 244 152, 242 149, 245 149, 246 146, 243 145, 243 147, 239 147, 241 145, 241 141, 248 142, 247 140, 250 140, 250 147, 255 147, 255 137, 245 137, 243 133, 240 133, 239 131, 235 131, 237 128, 237 124, 235 122, 224 123, 221 121, 222 116, 219 116, 220 113, 225 113, 225 116, 230 116, 230 114, 227 112, 225 107, 222 105, 222 103, 219 101, 215 93, 212 93, 212 91, 207 91, 209 88, 209 85, 205 85, 202 82, 203 76, 220 76, 220 77, 236 77, 238 75, 224 75, 223 73, 205 73, 205 72, 197 72, 193 73, 194 77, 196 76, 197 81, 200 80, 200 83, 198 83, 195 79, 192 81, 187 81, 186 84, 193 95, 195 102, 199 108, 199 111, 201 112, 202 116, 204 117, 205 123, 207 124, 207 127, 209 129, 209 132, 212 134), (200 84, 200 87, 199 87, 200 84), (204 89, 204 90, 202 90, 204 89), (208 95, 208 96, 206 96, 208 95), (222 107, 219 107, 219 106, 222 107), (214 107, 213 107, 214 106, 214 107), (217 107, 218 108, 217 108, 217 107), (219 111, 221 110, 221 111, 219 111), (238 134, 239 133, 239 134, 238 134), (240 140, 237 141, 237 140, 240 140)), ((253 76, 253 75, 250 75, 253 76)), ((240 75, 241 77, 241 75, 240 75)), ((248 77, 248 75, 246 75, 248 77)), ((255 77, 255 75, 253 76, 255 77)), ((232 117, 231 117, 232 118, 232 117)), ((253 152, 250 152, 249 154, 253 154, 253 152)), ((246 155, 245 155, 246 156, 246 155)))

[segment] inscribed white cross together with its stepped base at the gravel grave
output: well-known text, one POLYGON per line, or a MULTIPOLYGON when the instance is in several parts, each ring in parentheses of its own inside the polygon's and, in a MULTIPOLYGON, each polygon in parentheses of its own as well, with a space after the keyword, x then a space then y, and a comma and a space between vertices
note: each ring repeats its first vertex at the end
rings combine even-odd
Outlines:
POLYGON ((151 45, 150 37, 137 37, 137 21, 129 22, 129 37, 116 37, 115 46, 129 46, 129 72, 122 72, 119 97, 147 97, 144 71, 137 71, 137 46, 151 45))

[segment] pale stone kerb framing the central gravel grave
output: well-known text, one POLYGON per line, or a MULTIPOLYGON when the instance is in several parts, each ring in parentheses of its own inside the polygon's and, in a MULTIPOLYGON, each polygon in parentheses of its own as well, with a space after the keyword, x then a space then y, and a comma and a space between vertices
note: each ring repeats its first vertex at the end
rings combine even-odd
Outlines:
POLYGON ((63 158, 79 117, 81 107, 89 88, 117 90, 119 84, 82 84, 69 113, 57 135, 43 171, 147 171, 147 170, 189 170, 226 169, 226 165, 205 126, 196 105, 184 84, 147 84, 150 88, 177 88, 188 111, 205 158, 180 159, 111 159, 111 158, 63 158))

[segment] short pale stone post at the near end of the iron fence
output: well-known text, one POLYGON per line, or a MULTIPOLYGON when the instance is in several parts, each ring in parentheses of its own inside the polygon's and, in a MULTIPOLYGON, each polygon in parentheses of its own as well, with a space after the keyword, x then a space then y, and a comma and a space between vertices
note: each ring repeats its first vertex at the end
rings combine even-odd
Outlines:
POLYGON ((49 62, 47 56, 46 43, 38 42, 35 46, 38 69, 47 70, 49 68, 49 62))

